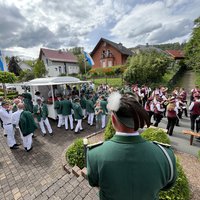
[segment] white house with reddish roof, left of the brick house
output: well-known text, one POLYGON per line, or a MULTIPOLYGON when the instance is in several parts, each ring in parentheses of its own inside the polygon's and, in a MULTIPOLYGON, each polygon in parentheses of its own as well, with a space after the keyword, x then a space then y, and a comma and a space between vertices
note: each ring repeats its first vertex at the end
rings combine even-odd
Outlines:
POLYGON ((39 59, 43 60, 48 77, 80 72, 77 57, 69 51, 41 48, 39 59))

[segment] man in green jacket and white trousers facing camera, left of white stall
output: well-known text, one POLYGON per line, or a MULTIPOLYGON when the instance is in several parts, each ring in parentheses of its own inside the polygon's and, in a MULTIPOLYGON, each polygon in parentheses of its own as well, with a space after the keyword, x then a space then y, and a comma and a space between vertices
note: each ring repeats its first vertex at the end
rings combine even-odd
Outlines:
POLYGON ((52 136, 53 131, 48 119, 48 108, 45 103, 42 103, 41 98, 37 99, 37 104, 33 107, 33 113, 39 123, 40 129, 42 131, 42 136, 46 135, 46 129, 44 127, 44 124, 46 125, 49 134, 52 136))

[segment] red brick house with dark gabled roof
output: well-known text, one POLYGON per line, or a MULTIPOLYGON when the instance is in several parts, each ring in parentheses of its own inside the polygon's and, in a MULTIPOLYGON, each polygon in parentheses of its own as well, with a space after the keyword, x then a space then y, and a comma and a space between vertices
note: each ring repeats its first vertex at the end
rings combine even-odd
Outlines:
POLYGON ((125 64, 127 58, 133 55, 133 52, 123 46, 122 43, 101 38, 90 55, 94 60, 93 68, 104 68, 125 64))

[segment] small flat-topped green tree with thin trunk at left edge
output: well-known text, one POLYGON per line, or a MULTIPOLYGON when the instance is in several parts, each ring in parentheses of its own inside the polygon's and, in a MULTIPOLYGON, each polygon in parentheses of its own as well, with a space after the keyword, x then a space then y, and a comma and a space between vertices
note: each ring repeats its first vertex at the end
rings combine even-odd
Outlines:
POLYGON ((16 80, 17 80, 17 77, 15 76, 14 73, 0 71, 0 83, 3 84, 5 98, 7 96, 5 83, 14 83, 16 80))

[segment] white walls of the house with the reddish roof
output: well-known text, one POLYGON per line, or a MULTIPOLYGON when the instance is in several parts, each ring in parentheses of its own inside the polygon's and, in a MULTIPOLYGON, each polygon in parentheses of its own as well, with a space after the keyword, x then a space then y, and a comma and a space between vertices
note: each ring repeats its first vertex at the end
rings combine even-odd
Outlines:
POLYGON ((42 60, 47 70, 47 77, 59 76, 60 74, 78 74, 80 72, 78 63, 66 63, 66 71, 65 65, 63 62, 52 62, 48 59, 48 63, 46 57, 42 55, 42 60))

